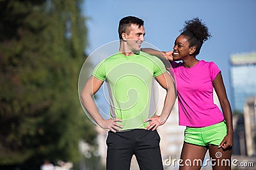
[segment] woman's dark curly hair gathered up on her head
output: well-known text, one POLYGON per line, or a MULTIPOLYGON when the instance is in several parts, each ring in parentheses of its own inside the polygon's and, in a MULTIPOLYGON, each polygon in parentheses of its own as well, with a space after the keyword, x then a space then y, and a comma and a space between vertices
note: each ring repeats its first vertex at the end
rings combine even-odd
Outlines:
POLYGON ((186 20, 184 28, 180 30, 180 35, 185 36, 189 41, 189 48, 191 46, 196 47, 195 55, 198 55, 200 49, 207 39, 211 38, 211 34, 208 31, 208 27, 202 23, 198 17, 192 20, 186 20))

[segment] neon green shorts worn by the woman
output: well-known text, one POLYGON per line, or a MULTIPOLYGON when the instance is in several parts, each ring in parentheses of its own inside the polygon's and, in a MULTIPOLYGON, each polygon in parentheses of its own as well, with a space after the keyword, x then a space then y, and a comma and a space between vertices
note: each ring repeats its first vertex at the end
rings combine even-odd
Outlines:
POLYGON ((227 125, 225 122, 207 127, 186 127, 184 142, 200 146, 219 146, 226 135, 227 125))

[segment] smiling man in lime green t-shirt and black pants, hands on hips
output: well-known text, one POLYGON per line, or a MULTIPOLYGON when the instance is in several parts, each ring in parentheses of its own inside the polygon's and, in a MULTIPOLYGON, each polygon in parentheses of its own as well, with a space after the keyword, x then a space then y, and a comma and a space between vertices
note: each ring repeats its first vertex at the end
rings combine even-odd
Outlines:
POLYGON ((119 22, 119 52, 100 62, 81 93, 81 102, 95 122, 109 129, 107 169, 130 169, 132 155, 140 169, 163 169, 156 128, 166 122, 175 101, 174 83, 163 62, 140 52, 144 41, 144 22, 124 17, 119 22), (155 115, 152 82, 156 78, 166 89, 160 116, 155 115), (92 96, 106 81, 109 87, 111 119, 104 120, 92 96))

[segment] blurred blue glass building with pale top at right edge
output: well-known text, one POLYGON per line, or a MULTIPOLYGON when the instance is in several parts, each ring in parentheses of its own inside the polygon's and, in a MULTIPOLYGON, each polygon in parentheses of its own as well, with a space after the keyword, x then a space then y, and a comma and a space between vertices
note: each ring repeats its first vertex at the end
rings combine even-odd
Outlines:
POLYGON ((230 55, 231 103, 243 112, 247 97, 256 95, 256 52, 230 55))

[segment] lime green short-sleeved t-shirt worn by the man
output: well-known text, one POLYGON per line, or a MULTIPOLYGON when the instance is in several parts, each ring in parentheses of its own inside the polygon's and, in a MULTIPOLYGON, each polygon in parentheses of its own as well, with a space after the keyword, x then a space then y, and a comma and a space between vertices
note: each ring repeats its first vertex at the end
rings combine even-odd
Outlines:
POLYGON ((147 127, 143 121, 156 112, 153 79, 165 71, 160 59, 144 52, 130 56, 118 52, 95 67, 92 74, 106 81, 110 114, 122 119, 118 122, 122 131, 147 127))

